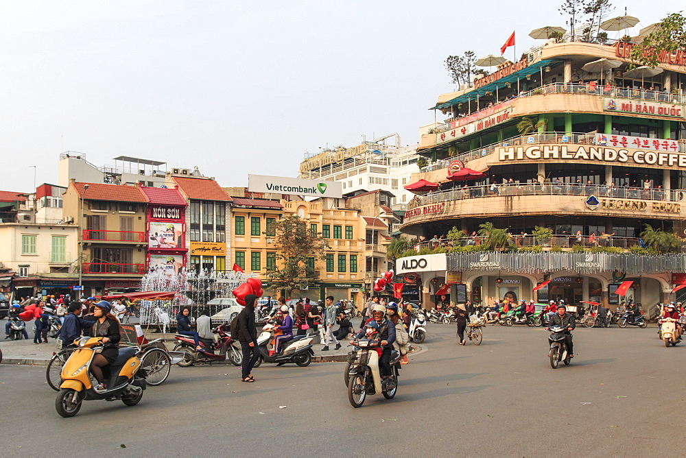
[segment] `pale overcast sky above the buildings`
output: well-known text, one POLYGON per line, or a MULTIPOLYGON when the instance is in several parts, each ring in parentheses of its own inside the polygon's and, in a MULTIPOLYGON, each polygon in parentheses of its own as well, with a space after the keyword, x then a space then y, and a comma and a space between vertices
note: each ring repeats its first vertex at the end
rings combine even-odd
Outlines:
MULTIPOLYGON (((222 186, 296 176, 306 151, 398 132, 453 91, 443 60, 565 26, 558 1, 0 2, 1 190, 57 182, 60 151, 197 165, 222 186)), ((683 0, 628 0, 633 29, 683 0)), ((615 38, 617 32, 611 32, 615 38)), ((512 49, 506 51, 512 59, 512 49)))

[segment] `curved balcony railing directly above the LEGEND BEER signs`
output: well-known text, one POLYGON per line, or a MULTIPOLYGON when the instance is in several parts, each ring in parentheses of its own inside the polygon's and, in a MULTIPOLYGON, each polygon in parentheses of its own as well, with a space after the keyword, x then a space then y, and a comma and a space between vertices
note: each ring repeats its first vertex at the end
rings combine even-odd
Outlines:
POLYGON ((410 208, 427 204, 450 202, 453 200, 474 199, 478 197, 499 197, 502 195, 576 195, 612 197, 616 199, 667 200, 681 202, 686 198, 684 189, 637 188, 629 186, 605 186, 598 184, 576 184, 555 182, 529 182, 512 184, 484 184, 464 186, 427 195, 417 195, 410 201, 410 208))

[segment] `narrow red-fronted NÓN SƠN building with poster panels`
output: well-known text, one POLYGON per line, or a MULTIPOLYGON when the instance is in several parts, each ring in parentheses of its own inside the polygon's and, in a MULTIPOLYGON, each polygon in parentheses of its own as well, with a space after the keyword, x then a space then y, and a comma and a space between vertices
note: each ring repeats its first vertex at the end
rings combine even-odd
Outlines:
POLYGON ((187 264, 186 201, 174 188, 141 186, 147 200, 147 272, 176 275, 187 264))

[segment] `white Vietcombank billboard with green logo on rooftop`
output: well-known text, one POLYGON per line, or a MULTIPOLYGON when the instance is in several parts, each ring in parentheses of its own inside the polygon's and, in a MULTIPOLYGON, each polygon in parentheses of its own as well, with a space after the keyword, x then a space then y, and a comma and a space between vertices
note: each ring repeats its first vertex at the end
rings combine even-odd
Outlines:
POLYGON ((248 175, 248 191, 253 193, 342 197, 343 186, 335 181, 300 180, 281 176, 248 175))

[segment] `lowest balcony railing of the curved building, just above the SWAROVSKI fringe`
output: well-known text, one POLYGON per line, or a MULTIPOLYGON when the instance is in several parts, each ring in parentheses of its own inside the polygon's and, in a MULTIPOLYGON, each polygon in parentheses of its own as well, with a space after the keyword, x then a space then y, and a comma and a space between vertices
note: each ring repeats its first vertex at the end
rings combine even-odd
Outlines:
MULTIPOLYGON (((419 251, 422 248, 428 248, 429 250, 435 250, 436 248, 453 248, 458 246, 467 245, 481 245, 484 243, 486 237, 474 236, 474 237, 463 237, 458 240, 449 239, 436 239, 429 241, 421 241, 414 245, 412 248, 419 251)), ((594 248, 594 247, 616 247, 628 249, 634 245, 639 245, 641 248, 646 248, 645 244, 638 237, 615 237, 614 235, 603 235, 603 234, 554 234, 552 237, 542 239, 531 234, 511 234, 510 241, 519 248, 524 247, 534 247, 540 246, 544 248, 549 248, 554 245, 560 248, 571 248, 574 245, 581 245, 583 248, 594 248)))

